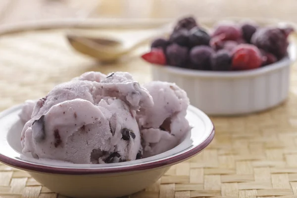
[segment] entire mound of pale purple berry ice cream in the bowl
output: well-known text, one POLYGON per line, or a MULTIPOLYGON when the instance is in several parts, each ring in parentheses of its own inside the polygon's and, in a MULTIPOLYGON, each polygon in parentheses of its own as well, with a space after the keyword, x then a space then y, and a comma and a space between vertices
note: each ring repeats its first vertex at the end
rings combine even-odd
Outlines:
POLYGON ((175 84, 140 85, 127 72, 87 72, 26 100, 22 152, 72 163, 114 163, 175 147, 189 131, 189 99, 175 84))

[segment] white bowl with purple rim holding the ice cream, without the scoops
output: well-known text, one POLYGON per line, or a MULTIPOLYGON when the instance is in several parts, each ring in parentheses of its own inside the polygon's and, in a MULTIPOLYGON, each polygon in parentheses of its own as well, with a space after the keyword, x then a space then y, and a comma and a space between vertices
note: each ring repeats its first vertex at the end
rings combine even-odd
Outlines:
POLYGON ((164 153, 113 164, 73 164, 38 160, 21 154, 21 105, 0 113, 0 162, 28 171, 51 191, 74 198, 114 198, 136 193, 156 182, 172 165, 198 154, 214 137, 214 126, 202 111, 189 106, 193 129, 164 153))

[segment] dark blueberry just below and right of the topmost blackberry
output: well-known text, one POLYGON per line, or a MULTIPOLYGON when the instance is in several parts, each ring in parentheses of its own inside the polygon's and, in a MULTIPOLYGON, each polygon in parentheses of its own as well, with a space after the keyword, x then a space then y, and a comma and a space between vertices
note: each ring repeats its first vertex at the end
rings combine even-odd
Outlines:
POLYGON ((208 46, 210 41, 210 36, 205 32, 205 30, 194 27, 190 30, 189 34, 189 46, 208 46))

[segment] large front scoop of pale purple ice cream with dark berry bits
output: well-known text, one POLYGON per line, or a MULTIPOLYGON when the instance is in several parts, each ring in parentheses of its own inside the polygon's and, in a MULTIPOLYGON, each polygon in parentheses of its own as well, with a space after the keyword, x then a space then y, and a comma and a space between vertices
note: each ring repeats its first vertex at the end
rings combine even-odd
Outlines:
POLYGON ((114 98, 98 105, 85 99, 55 104, 26 123, 21 144, 25 154, 73 163, 135 160, 141 150, 136 119, 125 102, 114 98))

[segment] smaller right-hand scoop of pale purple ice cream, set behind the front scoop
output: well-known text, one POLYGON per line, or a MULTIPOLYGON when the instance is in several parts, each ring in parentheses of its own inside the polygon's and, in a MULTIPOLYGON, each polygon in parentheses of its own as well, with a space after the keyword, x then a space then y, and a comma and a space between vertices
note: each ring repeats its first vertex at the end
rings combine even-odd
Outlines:
POLYGON ((137 120, 143 136, 144 156, 152 156, 176 147, 190 130, 185 118, 189 98, 174 83, 153 81, 144 85, 154 105, 141 108, 137 120))

